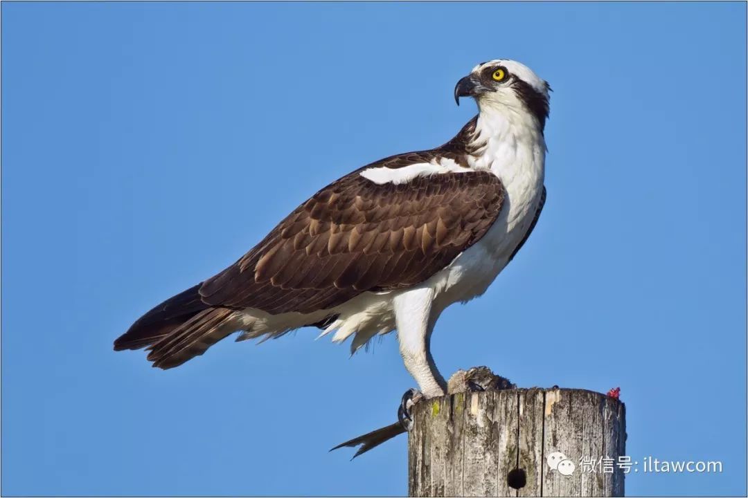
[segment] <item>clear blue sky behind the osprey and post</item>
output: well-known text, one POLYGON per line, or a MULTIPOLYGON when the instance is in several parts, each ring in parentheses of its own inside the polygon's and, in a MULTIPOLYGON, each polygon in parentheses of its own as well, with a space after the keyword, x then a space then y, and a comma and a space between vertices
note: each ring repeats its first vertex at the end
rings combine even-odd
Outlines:
POLYGON ((175 370, 111 350, 329 181, 443 143, 456 81, 554 88, 548 202, 441 371, 620 386, 628 494, 746 493, 746 5, 2 4, 2 484, 13 494, 405 494, 396 338, 302 329, 175 370))

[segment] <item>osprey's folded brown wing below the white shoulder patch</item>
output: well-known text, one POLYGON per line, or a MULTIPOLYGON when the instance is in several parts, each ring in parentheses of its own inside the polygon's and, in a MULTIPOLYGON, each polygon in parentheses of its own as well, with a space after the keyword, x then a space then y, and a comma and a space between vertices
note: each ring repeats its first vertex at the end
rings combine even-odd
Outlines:
POLYGON ((353 172, 295 209, 200 287, 203 302, 270 314, 333 308, 367 290, 410 287, 446 267, 496 220, 491 172, 375 184, 353 172))

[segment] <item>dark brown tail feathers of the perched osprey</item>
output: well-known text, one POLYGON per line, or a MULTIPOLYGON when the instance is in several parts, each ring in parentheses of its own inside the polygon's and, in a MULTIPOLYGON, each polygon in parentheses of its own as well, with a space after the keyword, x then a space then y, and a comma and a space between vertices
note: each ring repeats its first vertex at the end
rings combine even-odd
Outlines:
POLYGON ((235 332, 229 317, 233 310, 213 308, 200 299, 200 284, 167 299, 148 311, 114 341, 114 350, 150 350, 153 367, 172 368, 235 332))

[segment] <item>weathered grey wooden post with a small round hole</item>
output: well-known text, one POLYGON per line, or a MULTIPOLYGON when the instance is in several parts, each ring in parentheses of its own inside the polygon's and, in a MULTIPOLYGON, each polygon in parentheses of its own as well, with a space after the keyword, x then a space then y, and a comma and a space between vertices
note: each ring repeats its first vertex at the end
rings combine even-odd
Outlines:
POLYGON ((411 497, 623 496, 618 399, 581 389, 485 390, 429 399, 413 414, 411 497))

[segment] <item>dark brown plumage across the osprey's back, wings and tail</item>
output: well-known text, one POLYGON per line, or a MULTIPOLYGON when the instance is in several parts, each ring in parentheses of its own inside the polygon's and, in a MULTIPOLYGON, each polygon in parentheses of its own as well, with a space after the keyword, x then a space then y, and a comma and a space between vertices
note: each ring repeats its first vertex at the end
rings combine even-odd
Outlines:
POLYGON ((475 127, 473 118, 443 146, 384 158, 319 190, 236 264, 141 317, 114 349, 150 346, 154 366, 176 367, 233 332, 227 320, 235 309, 310 313, 367 290, 426 280, 488 231, 503 207, 503 185, 490 172, 397 185, 375 184, 361 172, 440 158, 467 166, 484 145, 475 127))

